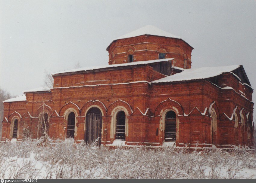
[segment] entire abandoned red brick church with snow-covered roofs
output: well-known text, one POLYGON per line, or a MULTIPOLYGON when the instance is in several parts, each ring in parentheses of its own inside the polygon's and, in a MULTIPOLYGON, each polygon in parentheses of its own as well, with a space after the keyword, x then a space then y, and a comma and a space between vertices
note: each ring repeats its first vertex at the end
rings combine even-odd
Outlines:
POLYGON ((193 47, 145 26, 107 47, 108 65, 52 74, 50 89, 4 101, 1 141, 253 148, 251 84, 242 65, 191 69, 193 47), (44 130, 46 129, 46 130, 44 130))

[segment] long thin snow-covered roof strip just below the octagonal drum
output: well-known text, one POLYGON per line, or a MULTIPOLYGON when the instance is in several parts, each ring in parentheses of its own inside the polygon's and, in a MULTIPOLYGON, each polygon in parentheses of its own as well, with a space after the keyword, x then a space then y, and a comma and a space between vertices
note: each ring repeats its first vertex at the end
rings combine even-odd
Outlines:
POLYGON ((138 62, 122 63, 122 64, 112 64, 112 65, 105 65, 105 66, 91 66, 91 67, 85 67, 85 68, 71 69, 71 70, 67 70, 67 71, 55 72, 52 75, 63 74, 63 73, 68 73, 68 72, 79 72, 79 71, 89 71, 89 70, 95 70, 95 69, 105 69, 105 68, 120 67, 120 66, 136 66, 136 65, 150 64, 150 63, 155 63, 155 62, 167 62, 169 60, 173 60, 173 58, 157 59, 157 60, 146 60, 146 61, 138 61, 138 62))

